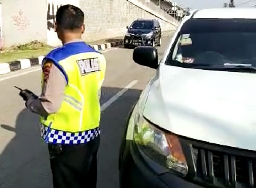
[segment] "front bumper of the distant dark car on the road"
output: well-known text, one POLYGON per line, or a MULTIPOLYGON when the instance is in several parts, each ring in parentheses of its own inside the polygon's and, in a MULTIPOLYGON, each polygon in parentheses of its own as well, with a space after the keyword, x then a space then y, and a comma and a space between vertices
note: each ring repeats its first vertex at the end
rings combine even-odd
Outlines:
POLYGON ((135 47, 135 46, 150 46, 152 45, 153 37, 133 37, 126 36, 124 37, 124 45, 135 47))

